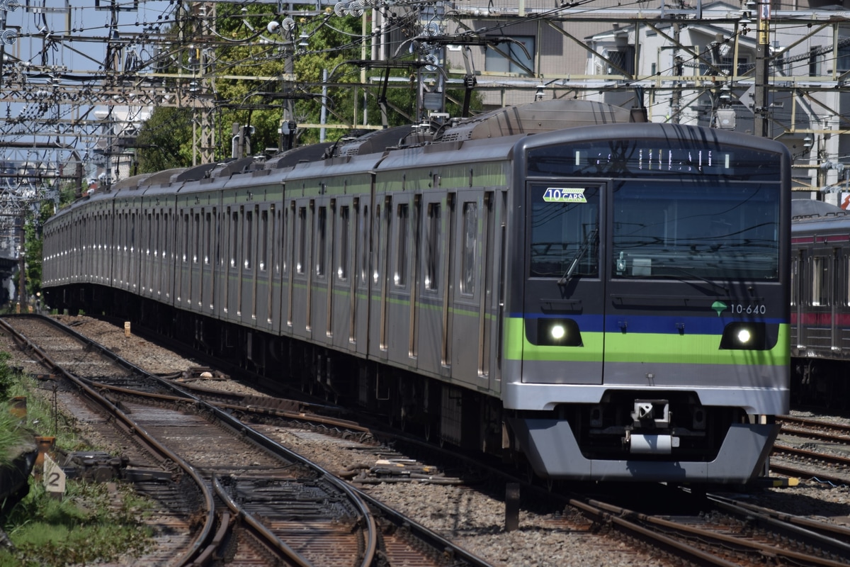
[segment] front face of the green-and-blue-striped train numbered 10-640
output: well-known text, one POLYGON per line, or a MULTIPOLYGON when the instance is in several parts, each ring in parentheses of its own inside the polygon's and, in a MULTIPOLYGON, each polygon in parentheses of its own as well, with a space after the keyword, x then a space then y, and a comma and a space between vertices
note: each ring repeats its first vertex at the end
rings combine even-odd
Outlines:
POLYGON ((502 398, 536 473, 757 479, 789 409, 785 146, 621 124, 514 156, 502 398))

